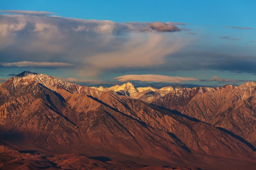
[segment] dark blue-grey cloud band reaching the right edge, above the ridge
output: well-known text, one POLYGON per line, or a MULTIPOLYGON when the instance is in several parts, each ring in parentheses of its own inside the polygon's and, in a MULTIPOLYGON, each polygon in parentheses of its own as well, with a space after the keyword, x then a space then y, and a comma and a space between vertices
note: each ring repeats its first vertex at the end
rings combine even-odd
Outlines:
MULTIPOLYGON (((230 71, 234 73, 256 73, 256 56, 232 55, 207 51, 177 51, 163 59, 162 64, 150 67, 134 67, 132 71, 166 73, 171 71, 230 71)), ((125 74, 129 68, 111 68, 112 72, 125 74)))

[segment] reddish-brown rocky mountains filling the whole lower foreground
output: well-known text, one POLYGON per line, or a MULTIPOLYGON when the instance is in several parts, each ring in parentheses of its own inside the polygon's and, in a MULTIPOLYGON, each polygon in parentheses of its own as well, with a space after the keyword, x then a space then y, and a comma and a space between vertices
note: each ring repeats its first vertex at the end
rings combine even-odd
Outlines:
POLYGON ((23 72, 0 85, 0 169, 252 169, 252 84, 184 88, 148 104, 23 72), (225 88, 230 95, 222 94, 225 88), (199 94, 204 105, 192 111, 189 104, 199 94), (206 94, 218 104, 202 100, 206 94), (236 125, 242 115, 248 124, 236 125), (243 135, 234 127, 242 127, 243 135))

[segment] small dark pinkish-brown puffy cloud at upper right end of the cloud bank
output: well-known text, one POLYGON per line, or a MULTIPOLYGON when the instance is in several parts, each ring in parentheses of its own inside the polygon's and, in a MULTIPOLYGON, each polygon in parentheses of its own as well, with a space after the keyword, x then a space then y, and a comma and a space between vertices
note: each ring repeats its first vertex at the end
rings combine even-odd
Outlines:
POLYGON ((158 32, 175 32, 181 31, 177 26, 171 24, 166 24, 164 22, 151 22, 148 24, 148 28, 153 29, 158 32))

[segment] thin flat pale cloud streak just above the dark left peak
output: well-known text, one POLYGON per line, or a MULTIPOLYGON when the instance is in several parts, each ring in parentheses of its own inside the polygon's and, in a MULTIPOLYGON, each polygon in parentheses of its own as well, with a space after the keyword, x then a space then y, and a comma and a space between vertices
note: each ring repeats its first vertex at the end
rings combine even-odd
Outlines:
POLYGON ((4 67, 62 67, 62 66, 71 66, 72 64, 63 63, 63 62, 0 62, 0 66, 4 67))

